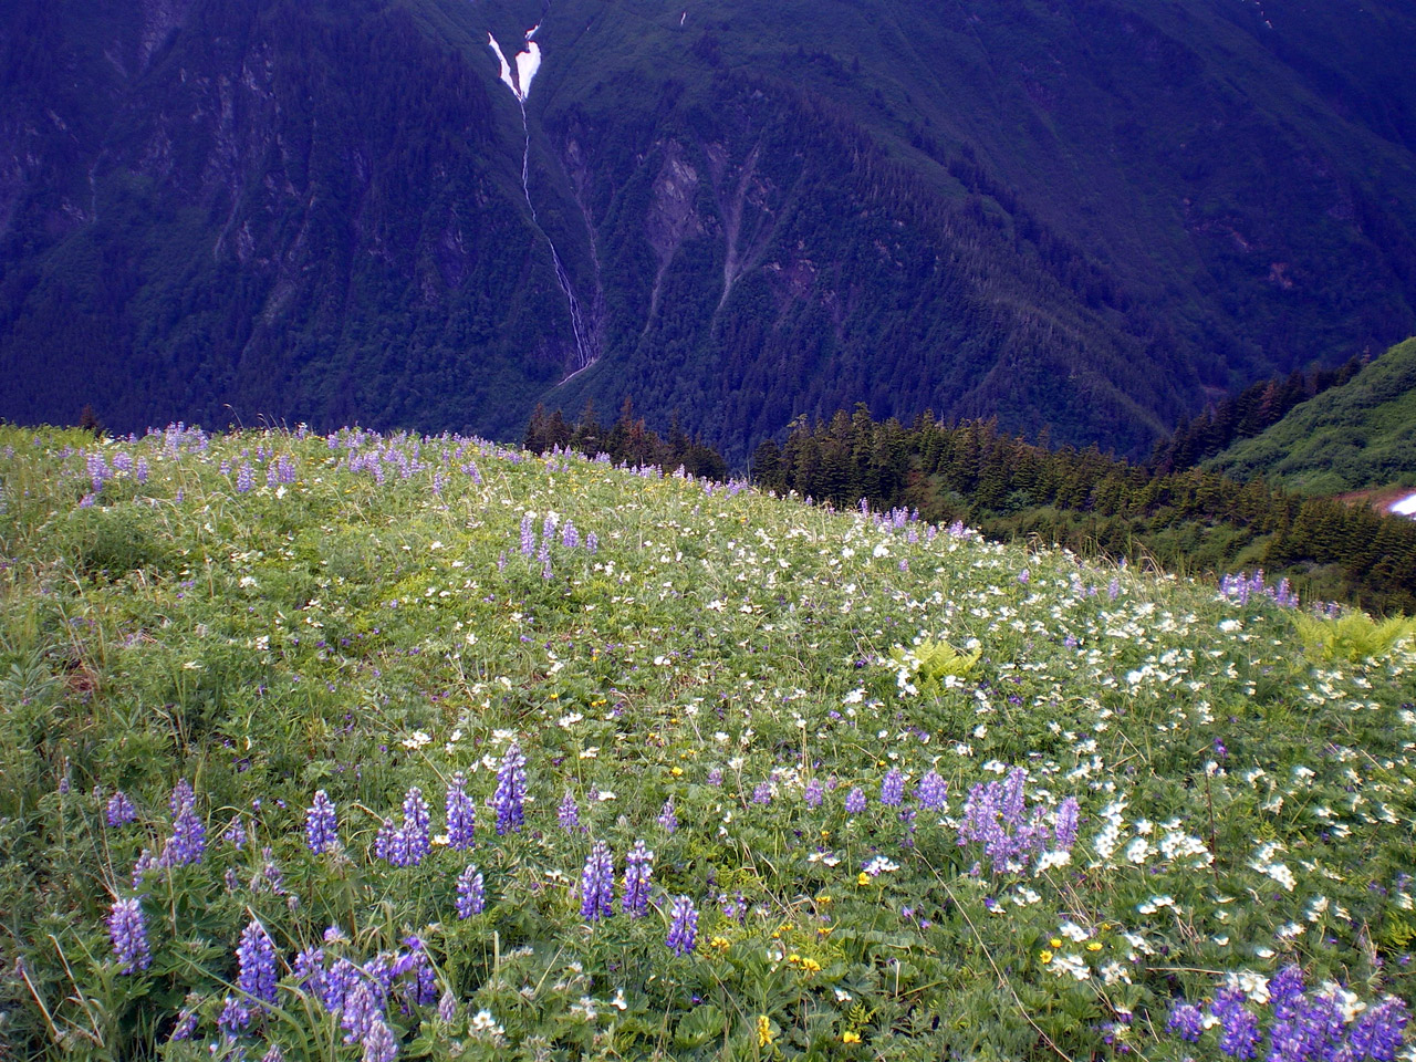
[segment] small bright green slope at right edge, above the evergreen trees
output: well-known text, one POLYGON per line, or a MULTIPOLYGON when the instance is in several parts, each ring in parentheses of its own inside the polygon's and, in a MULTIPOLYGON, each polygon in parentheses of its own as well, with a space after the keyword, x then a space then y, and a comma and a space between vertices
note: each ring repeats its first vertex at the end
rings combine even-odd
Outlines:
POLYGON ((1306 494, 1416 487, 1416 338, 1205 467, 1233 479, 1263 476, 1306 494))

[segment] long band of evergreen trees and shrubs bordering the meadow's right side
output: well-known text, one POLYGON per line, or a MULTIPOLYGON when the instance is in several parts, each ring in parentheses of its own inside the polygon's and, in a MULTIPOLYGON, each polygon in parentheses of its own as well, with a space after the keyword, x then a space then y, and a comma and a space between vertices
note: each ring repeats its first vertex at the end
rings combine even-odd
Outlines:
MULTIPOLYGON (((1355 385, 1355 384, 1354 384, 1355 385)), ((1349 385, 1352 387, 1352 385, 1349 385)), ((1330 392, 1337 394, 1337 392, 1330 392)), ((1406 425, 1409 430, 1409 425, 1406 425)), ((1154 472, 1095 447, 1048 450, 993 422, 903 428, 864 408, 767 440, 753 479, 817 501, 913 507, 991 537, 1148 559, 1167 571, 1286 575, 1315 598, 1416 610, 1416 523, 1214 472, 1154 472)))

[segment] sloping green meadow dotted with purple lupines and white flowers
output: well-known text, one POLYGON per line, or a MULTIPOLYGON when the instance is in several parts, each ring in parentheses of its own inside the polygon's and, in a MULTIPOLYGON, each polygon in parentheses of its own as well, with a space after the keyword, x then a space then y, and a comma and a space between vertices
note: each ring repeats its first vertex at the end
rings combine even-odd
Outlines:
POLYGON ((456 436, 0 484, 0 1058, 1416 1059, 1408 620, 456 436))

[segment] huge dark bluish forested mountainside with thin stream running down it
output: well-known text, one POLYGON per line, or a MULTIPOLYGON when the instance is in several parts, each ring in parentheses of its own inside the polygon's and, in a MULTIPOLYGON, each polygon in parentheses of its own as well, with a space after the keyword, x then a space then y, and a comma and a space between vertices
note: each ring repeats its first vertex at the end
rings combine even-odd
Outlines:
POLYGON ((742 460, 861 401, 1141 455, 1416 331, 1395 0, 0 11, 11 419, 632 395, 742 460))

